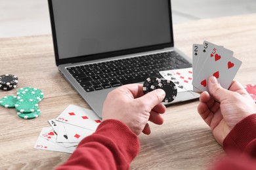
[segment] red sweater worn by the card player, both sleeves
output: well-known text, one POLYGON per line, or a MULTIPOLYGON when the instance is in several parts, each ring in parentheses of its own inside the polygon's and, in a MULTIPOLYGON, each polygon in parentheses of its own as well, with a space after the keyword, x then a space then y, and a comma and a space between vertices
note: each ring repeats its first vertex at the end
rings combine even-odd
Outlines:
MULTIPOLYGON (((230 131, 223 148, 230 157, 217 163, 215 169, 256 169, 256 114, 230 131)), ((129 127, 117 120, 105 120, 56 169, 129 169, 139 149, 139 139, 129 127)))

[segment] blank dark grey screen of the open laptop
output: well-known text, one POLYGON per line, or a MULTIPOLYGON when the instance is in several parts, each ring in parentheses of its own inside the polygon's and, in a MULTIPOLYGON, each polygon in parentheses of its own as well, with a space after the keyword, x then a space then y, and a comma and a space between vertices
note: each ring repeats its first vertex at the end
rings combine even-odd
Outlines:
POLYGON ((167 0, 49 0, 58 59, 172 43, 167 0))

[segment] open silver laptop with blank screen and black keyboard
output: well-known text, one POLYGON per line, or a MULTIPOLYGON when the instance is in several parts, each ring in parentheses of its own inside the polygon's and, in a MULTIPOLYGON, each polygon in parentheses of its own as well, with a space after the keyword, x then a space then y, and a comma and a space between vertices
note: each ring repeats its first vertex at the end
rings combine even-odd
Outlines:
MULTIPOLYGON (((174 47, 169 0, 49 0, 56 66, 98 116, 106 95, 192 67, 174 47)), ((198 98, 177 94, 172 103, 198 98)), ((113 106, 114 107, 114 106, 113 106)))

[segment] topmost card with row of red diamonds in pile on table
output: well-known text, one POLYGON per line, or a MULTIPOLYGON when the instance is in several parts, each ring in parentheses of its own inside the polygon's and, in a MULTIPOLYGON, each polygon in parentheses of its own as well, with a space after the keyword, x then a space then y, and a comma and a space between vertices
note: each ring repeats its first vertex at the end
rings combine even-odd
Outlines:
MULTIPOLYGON (((92 131, 95 131, 100 122, 102 122, 93 110, 75 105, 69 105, 56 120, 92 131)), ((58 131, 58 133, 60 132, 58 131)))

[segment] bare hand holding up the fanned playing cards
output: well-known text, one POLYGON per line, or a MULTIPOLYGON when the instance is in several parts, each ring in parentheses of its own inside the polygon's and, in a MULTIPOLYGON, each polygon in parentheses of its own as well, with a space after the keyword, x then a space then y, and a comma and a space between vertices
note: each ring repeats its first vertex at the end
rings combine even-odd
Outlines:
POLYGON ((198 112, 211 127, 213 136, 219 144, 240 120, 256 113, 256 104, 244 87, 234 80, 226 90, 218 84, 215 76, 208 81, 209 93, 200 95, 198 112))

